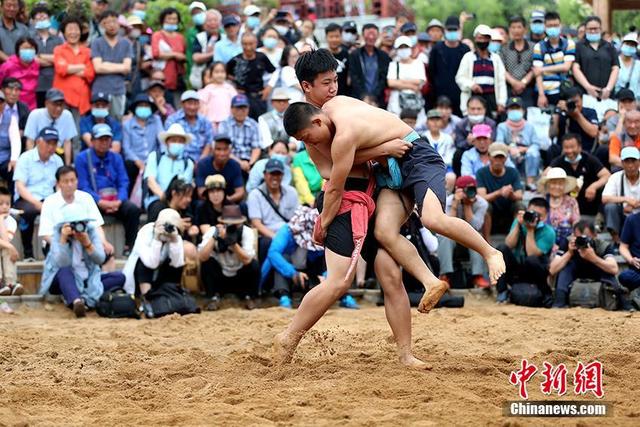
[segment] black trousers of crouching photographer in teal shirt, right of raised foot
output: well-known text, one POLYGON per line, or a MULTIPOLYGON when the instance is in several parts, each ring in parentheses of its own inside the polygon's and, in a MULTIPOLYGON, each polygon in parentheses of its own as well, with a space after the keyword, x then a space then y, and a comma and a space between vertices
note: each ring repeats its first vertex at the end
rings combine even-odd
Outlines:
POLYGON ((507 284, 526 282, 538 286, 543 295, 551 295, 551 288, 547 284, 549 257, 546 255, 528 256, 522 262, 515 257, 507 245, 498 246, 498 250, 502 252, 507 266, 506 273, 498 280, 496 286, 498 292, 506 291, 507 284))

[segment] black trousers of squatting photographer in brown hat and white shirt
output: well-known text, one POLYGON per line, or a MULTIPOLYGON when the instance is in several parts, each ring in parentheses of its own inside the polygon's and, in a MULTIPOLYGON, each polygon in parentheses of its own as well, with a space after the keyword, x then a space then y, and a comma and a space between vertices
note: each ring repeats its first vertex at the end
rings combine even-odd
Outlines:
POLYGON ((207 298, 224 293, 233 293, 241 298, 254 297, 257 294, 260 265, 255 259, 242 267, 235 276, 227 277, 222 274, 220 263, 209 258, 202 263, 201 273, 207 298))

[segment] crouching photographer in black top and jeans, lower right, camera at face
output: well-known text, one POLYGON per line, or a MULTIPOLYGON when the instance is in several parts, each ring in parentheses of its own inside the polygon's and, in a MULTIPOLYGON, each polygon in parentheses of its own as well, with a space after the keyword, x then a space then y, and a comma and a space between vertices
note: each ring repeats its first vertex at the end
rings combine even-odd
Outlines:
POLYGON ((549 274, 558 275, 553 308, 568 306, 571 284, 576 279, 607 282, 619 288, 615 277, 618 274, 618 263, 614 258, 612 245, 596 236, 592 222, 578 221, 573 226, 573 235, 569 237, 569 250, 551 261, 549 274))

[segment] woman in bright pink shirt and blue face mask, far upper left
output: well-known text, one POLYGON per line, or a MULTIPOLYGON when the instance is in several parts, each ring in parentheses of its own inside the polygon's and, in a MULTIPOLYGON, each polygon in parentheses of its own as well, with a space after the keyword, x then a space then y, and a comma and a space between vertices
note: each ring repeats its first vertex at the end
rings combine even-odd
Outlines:
POLYGON ((40 64, 35 60, 38 45, 31 37, 20 37, 16 42, 15 52, 0 66, 0 82, 6 77, 20 80, 20 101, 27 104, 29 110, 33 110, 36 108, 36 88, 40 73, 40 64))

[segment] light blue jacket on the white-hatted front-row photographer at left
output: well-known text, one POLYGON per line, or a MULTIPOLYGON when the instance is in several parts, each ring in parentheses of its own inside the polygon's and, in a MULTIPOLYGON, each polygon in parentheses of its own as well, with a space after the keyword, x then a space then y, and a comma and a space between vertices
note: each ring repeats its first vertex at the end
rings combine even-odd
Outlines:
MULTIPOLYGON (((100 265, 104 262, 105 254, 104 247, 102 246, 102 240, 96 231, 93 224, 89 223, 87 233, 93 244, 93 252, 91 255, 87 254, 84 250, 84 260, 87 270, 89 271, 89 278, 87 284, 82 282, 82 279, 76 276, 76 286, 80 291, 80 295, 84 299, 85 303, 89 307, 95 307, 96 303, 100 299, 103 293, 103 286, 101 280, 100 265)), ((60 244, 60 227, 57 226, 51 239, 51 250, 47 255, 47 259, 44 261, 44 271, 42 272, 42 281, 40 282, 40 290, 38 293, 44 295, 49 292, 49 288, 53 283, 53 279, 56 277, 58 270, 63 267, 71 267, 72 265, 73 250, 71 248, 71 242, 66 245, 60 244)), ((66 301, 67 304, 71 304, 73 301, 66 301)))

